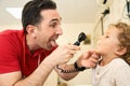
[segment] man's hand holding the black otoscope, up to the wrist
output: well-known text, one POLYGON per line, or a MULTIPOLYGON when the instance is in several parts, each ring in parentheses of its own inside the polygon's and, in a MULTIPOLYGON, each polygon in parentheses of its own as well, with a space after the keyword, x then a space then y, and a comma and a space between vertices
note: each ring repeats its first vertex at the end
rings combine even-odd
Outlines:
POLYGON ((49 58, 47 59, 50 59, 50 61, 52 60, 55 66, 63 64, 68 62, 79 49, 79 46, 70 44, 58 46, 55 51, 52 52, 52 54, 50 54, 49 58))

